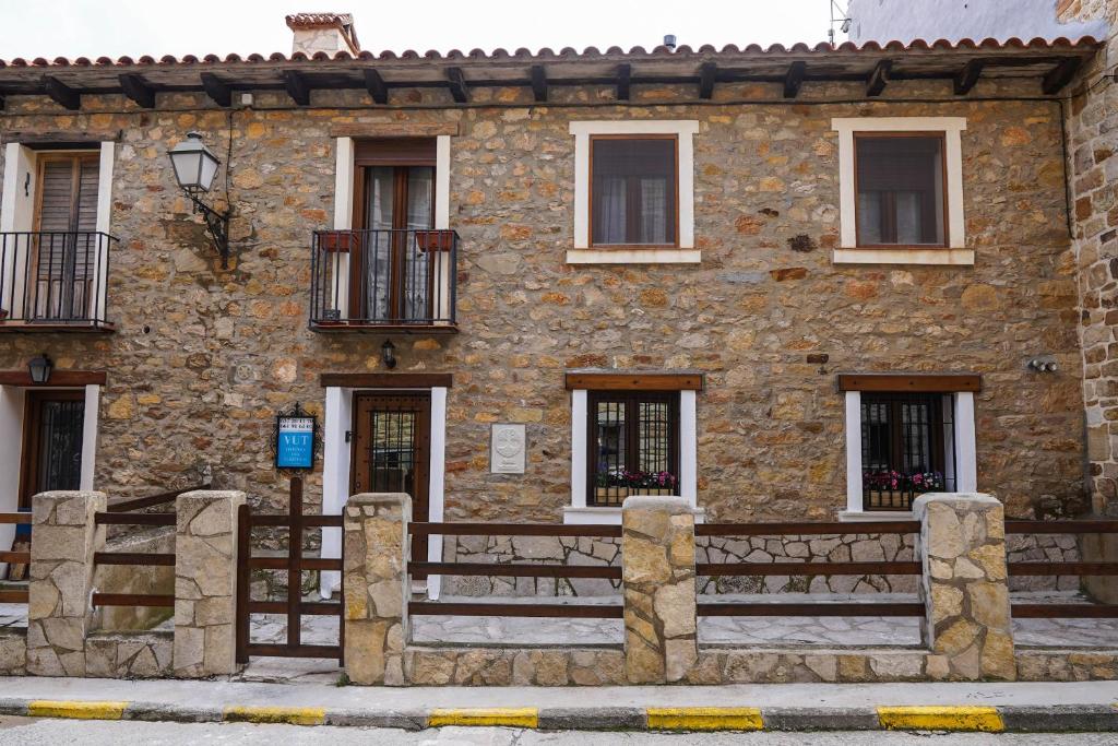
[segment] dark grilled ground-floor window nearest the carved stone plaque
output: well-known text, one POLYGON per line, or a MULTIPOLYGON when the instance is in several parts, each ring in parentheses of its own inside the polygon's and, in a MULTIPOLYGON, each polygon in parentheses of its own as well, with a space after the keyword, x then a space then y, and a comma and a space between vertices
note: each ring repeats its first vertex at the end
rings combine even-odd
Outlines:
POLYGON ((679 393, 590 391, 587 504, 679 494, 679 393))

